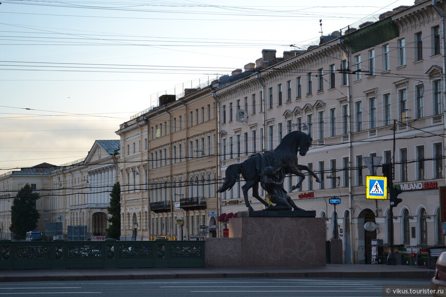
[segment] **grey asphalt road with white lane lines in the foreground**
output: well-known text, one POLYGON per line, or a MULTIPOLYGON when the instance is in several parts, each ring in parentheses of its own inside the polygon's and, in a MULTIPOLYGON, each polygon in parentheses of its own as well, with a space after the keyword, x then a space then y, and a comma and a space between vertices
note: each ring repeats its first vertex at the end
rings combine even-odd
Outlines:
POLYGON ((193 279, 0 283, 0 296, 432 296, 386 288, 429 288, 429 280, 193 279), (384 292, 384 293, 383 293, 384 292))

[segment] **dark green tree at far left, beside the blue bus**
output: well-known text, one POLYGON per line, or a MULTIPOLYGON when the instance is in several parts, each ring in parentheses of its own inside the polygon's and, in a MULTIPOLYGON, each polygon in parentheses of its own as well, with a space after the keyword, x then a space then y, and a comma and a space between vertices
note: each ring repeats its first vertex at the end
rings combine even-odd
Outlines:
POLYGON ((25 239, 26 232, 35 230, 40 215, 35 208, 39 194, 33 192, 31 186, 26 184, 18 191, 11 206, 11 226, 14 239, 25 239))

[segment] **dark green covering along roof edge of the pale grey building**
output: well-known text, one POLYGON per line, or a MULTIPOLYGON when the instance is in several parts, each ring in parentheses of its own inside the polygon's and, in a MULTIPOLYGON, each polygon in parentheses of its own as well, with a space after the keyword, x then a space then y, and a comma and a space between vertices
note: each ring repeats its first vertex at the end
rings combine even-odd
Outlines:
POLYGON ((373 48, 399 36, 398 27, 393 23, 391 17, 379 20, 363 29, 354 31, 342 39, 350 46, 352 54, 373 48))

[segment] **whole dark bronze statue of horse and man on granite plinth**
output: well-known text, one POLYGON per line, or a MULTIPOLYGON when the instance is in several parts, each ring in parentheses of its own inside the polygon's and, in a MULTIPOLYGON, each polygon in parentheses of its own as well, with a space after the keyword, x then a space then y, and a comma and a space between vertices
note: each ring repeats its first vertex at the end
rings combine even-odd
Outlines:
POLYGON ((226 169, 225 182, 217 192, 222 193, 232 188, 241 174, 246 181, 241 189, 249 211, 253 211, 248 200, 250 188, 252 188, 252 196, 267 206, 265 210, 291 210, 292 208, 302 210, 288 196, 287 191, 283 188, 283 180, 285 180, 286 174, 297 175, 300 180, 296 185, 293 185, 291 190, 299 188, 305 179, 305 174, 302 173, 302 170, 305 170, 314 176, 316 182, 320 182, 318 176, 308 166, 297 163, 297 153, 300 156, 305 156, 312 141, 309 134, 300 131, 288 133, 274 151, 254 154, 242 163, 229 165, 226 169), (269 205, 259 196, 259 183, 275 205, 269 205))

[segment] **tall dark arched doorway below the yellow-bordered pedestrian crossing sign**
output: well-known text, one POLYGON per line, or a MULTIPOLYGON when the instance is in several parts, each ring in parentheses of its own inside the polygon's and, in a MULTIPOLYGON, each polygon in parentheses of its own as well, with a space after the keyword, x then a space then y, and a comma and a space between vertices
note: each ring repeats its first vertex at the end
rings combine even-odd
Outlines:
POLYGON ((358 215, 358 263, 372 263, 372 239, 376 239, 376 229, 367 231, 366 223, 375 223, 375 214, 372 209, 363 209, 358 215))

